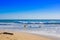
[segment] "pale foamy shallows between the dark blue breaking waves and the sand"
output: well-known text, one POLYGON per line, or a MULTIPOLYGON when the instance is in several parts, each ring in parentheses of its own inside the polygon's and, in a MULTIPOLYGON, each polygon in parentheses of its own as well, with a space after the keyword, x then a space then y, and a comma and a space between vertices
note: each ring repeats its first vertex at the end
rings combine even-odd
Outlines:
POLYGON ((49 36, 59 36, 60 24, 36 24, 36 25, 27 24, 26 28, 24 28, 24 24, 0 23, 0 30, 10 30, 10 31, 29 32, 49 36))

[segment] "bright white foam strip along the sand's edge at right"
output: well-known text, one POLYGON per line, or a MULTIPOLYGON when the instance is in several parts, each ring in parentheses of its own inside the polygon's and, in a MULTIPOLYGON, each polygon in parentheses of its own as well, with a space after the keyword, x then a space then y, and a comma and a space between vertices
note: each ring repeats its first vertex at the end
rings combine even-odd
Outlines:
POLYGON ((60 34, 47 33, 47 32, 44 32, 44 31, 24 31, 24 32, 43 35, 43 36, 50 36, 50 37, 58 37, 58 38, 60 38, 60 34))

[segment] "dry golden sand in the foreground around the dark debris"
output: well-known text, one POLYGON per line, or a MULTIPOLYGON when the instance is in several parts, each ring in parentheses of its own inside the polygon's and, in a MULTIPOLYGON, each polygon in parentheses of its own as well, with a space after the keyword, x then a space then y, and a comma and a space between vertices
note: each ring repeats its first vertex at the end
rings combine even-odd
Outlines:
POLYGON ((24 33, 24 32, 12 32, 13 35, 2 34, 2 33, 3 32, 0 32, 0 40, 52 40, 46 37, 24 33))

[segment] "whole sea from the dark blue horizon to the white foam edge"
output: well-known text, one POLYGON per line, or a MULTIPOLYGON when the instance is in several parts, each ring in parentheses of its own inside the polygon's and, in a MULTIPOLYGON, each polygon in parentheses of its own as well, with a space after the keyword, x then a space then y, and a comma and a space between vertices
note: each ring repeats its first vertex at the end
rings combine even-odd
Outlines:
POLYGON ((0 30, 60 37, 60 20, 0 20, 0 30))

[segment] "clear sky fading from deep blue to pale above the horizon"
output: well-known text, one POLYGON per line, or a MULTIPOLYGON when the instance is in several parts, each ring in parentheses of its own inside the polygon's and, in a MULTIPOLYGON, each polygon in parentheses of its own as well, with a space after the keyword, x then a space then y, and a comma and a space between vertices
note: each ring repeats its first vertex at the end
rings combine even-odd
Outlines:
POLYGON ((60 19, 60 0, 0 0, 0 19, 60 19))

